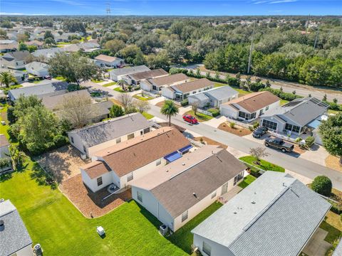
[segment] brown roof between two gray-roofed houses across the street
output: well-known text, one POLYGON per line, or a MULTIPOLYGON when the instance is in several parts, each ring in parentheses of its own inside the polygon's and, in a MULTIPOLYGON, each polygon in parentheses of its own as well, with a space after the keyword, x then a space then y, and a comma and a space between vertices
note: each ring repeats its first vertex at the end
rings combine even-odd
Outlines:
POLYGON ((239 105, 250 113, 253 113, 279 100, 279 97, 276 97, 276 95, 271 92, 252 92, 249 95, 244 95, 243 97, 226 102, 223 105, 229 105, 235 109, 236 107, 234 107, 234 105, 239 105))

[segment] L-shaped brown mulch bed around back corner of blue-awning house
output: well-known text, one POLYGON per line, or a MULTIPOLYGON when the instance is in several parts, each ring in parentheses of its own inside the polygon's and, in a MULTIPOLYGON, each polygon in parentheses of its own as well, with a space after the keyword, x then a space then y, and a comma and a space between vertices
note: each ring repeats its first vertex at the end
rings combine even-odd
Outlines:
POLYGON ((81 174, 63 181, 59 188, 87 218, 105 215, 110 210, 117 208, 132 198, 131 190, 128 189, 123 193, 114 194, 105 201, 102 201, 102 198, 109 195, 107 188, 105 187, 93 193, 83 183, 81 174))

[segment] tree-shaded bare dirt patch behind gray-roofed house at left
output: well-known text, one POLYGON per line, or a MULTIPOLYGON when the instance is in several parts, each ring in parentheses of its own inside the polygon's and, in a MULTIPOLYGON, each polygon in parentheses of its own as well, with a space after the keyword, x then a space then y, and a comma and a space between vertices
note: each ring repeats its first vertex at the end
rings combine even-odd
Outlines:
POLYGON ((42 154, 36 158, 36 161, 43 169, 51 171, 58 183, 80 174, 80 166, 90 162, 90 160, 82 160, 80 152, 71 145, 42 154))

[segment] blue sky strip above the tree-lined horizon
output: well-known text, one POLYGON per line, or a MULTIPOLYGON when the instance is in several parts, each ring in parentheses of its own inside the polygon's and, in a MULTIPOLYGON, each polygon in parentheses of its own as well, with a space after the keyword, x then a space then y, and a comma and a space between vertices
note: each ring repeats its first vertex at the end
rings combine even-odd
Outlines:
POLYGON ((1 0, 0 15, 342 15, 342 0, 1 0))

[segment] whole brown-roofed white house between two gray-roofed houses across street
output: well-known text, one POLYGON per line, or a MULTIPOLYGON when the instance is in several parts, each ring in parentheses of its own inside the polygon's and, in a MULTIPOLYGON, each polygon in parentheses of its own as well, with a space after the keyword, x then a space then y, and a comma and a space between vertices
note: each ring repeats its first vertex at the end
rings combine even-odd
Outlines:
POLYGON ((258 118, 266 111, 274 110, 280 105, 280 98, 271 92, 252 92, 219 106, 221 114, 233 119, 247 122, 258 118))

